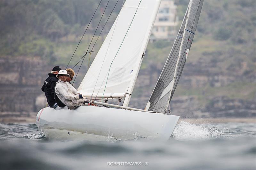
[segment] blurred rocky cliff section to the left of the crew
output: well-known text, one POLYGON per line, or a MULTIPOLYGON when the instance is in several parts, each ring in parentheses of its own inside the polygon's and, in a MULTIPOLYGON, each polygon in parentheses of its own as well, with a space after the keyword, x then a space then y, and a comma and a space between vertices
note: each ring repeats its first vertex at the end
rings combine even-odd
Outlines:
POLYGON ((0 58, 0 112, 1 116, 29 116, 46 106, 41 86, 47 66, 40 57, 0 58))

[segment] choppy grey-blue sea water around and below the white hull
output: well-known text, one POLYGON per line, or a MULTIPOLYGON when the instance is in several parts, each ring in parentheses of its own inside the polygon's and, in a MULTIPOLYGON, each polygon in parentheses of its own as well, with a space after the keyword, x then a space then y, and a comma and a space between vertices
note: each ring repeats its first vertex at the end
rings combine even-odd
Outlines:
POLYGON ((0 156, 0 169, 256 169, 256 124, 180 122, 167 142, 58 142, 35 124, 0 123, 0 156))

